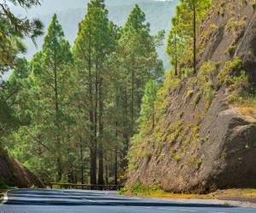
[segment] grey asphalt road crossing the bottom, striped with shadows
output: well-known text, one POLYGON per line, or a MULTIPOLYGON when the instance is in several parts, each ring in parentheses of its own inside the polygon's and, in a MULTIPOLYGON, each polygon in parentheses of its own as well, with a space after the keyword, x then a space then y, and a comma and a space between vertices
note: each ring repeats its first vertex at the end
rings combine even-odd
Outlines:
POLYGON ((120 197, 114 192, 82 190, 20 189, 9 191, 0 205, 1 213, 242 213, 256 209, 220 204, 183 204, 158 199, 120 197))

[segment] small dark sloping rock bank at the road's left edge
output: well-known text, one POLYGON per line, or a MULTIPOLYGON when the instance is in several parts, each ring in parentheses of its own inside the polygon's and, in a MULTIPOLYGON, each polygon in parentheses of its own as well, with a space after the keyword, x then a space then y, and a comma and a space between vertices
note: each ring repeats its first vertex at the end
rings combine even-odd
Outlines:
POLYGON ((15 187, 44 187, 31 171, 0 148, 0 184, 15 187))

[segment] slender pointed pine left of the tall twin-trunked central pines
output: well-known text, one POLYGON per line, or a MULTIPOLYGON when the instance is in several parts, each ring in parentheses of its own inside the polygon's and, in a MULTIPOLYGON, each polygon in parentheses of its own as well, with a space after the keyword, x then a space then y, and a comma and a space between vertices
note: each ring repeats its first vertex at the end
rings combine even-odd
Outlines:
POLYGON ((33 57, 32 80, 35 83, 33 88, 35 95, 38 96, 35 110, 42 110, 41 115, 49 125, 49 128, 44 131, 44 135, 49 137, 48 140, 54 141, 52 149, 55 150, 57 181, 61 180, 63 173, 61 134, 63 133, 64 105, 67 101, 70 76, 68 66, 71 65, 71 62, 70 45, 64 38, 61 25, 55 14, 49 25, 48 33, 44 37, 42 51, 33 57))

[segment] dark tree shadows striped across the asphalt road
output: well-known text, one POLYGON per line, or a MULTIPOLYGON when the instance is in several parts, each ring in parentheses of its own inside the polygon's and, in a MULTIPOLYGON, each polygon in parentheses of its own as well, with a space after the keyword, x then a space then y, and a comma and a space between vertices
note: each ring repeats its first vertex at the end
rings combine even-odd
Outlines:
POLYGON ((111 196, 101 192, 81 192, 58 190, 17 190, 8 193, 9 205, 69 205, 69 206, 134 206, 134 207, 194 207, 194 208, 232 208, 222 204, 181 204, 150 199, 132 199, 111 196))

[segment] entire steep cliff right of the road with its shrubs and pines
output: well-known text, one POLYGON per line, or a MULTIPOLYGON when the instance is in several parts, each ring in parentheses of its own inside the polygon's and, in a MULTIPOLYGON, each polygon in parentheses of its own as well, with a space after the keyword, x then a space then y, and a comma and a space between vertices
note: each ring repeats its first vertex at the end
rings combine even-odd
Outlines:
MULTIPOLYGON (((253 38, 246 44, 252 49, 251 58, 244 56, 248 53, 241 46, 248 34, 256 36, 255 3, 213 1, 199 7, 195 48, 195 23, 185 2, 181 1, 172 18, 167 53, 173 68, 155 97, 154 121, 132 140, 127 186, 177 193, 253 187, 255 170, 246 157, 246 152, 255 153, 255 78, 246 66, 248 61, 255 65, 253 38), (236 124, 236 119, 241 123, 236 124), (246 139, 238 134, 247 135, 246 139), (233 181, 230 170, 243 170, 246 177, 233 181)), ((141 116, 139 120, 144 119, 141 116)))

